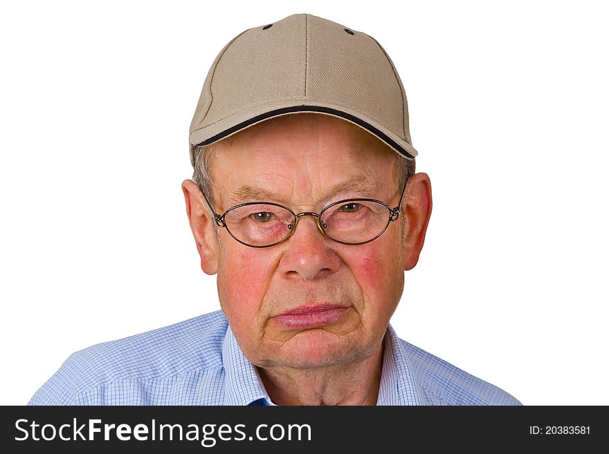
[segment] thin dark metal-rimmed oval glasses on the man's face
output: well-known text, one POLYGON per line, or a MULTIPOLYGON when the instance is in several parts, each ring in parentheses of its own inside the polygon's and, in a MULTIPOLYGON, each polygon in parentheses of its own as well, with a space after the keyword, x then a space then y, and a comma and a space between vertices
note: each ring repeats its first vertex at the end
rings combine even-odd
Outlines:
POLYGON ((404 182, 399 205, 390 207, 372 198, 347 198, 327 205, 320 213, 294 213, 275 202, 246 202, 217 214, 203 194, 218 227, 239 243, 249 247, 271 247, 287 240, 302 216, 316 218, 322 234, 343 245, 363 245, 376 240, 400 215, 400 206, 408 180, 404 182))

